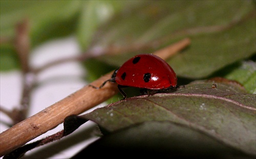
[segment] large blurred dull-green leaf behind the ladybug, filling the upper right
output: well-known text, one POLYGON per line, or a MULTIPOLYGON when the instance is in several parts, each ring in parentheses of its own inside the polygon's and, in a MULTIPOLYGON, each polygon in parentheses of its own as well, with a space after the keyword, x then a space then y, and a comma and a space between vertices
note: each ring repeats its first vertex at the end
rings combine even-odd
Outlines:
POLYGON ((144 1, 104 24, 91 48, 147 46, 98 58, 118 67, 135 54, 189 37, 190 47, 168 63, 179 77, 205 78, 255 54, 255 28, 251 1, 144 1), (152 42, 161 45, 153 47, 152 42))

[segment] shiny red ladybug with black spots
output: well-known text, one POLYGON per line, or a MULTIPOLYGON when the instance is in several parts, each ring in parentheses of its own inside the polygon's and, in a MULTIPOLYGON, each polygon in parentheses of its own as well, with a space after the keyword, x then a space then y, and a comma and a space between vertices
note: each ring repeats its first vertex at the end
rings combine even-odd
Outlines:
POLYGON ((172 67, 163 59, 153 54, 140 54, 117 68, 112 77, 100 87, 90 86, 100 89, 106 82, 116 82, 125 99, 126 94, 121 89, 123 87, 141 88, 141 94, 169 92, 176 89, 177 77, 172 67))

